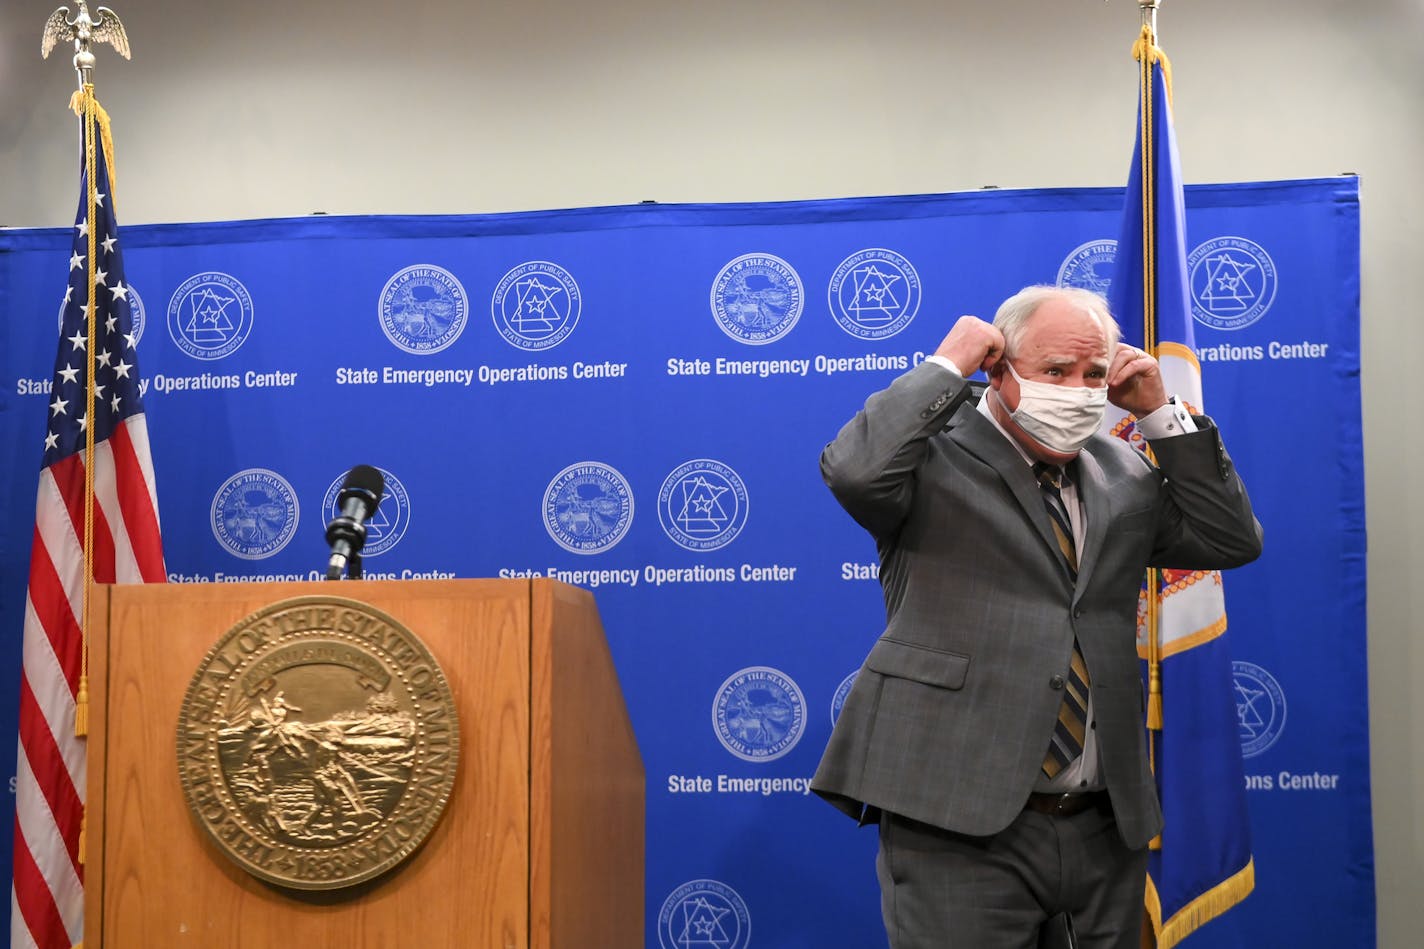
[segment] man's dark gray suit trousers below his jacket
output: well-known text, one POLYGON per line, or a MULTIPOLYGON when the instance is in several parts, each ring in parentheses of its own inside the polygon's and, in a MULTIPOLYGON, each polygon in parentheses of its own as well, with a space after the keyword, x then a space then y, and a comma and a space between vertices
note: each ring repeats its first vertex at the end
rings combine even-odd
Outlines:
POLYGON ((880 815, 880 909, 891 949, 1034 949, 1071 912, 1081 949, 1138 949, 1146 849, 1111 814, 1024 811, 994 836, 880 815))

